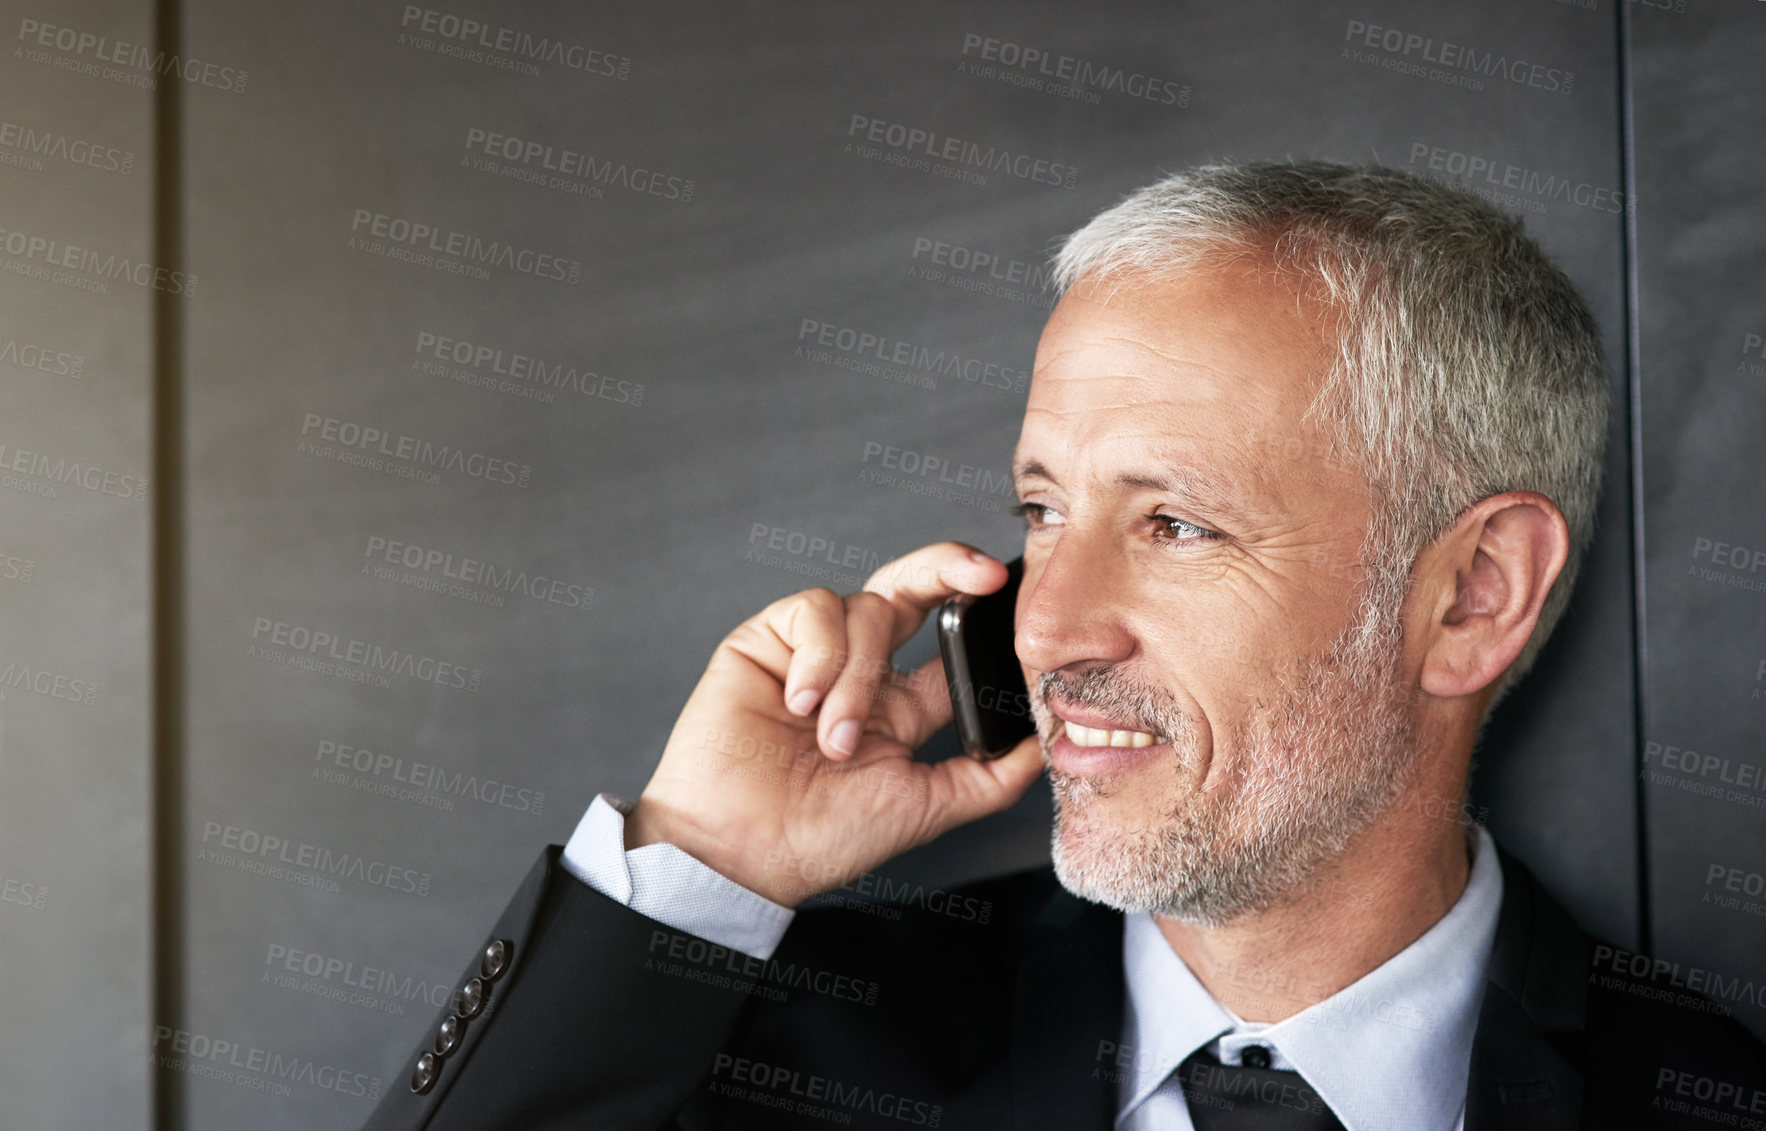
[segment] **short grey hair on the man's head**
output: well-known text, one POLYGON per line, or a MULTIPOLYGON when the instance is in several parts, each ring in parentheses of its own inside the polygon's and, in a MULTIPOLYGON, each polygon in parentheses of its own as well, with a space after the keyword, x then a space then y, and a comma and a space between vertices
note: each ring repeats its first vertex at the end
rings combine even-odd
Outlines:
POLYGON ((1346 327, 1309 415, 1367 474, 1365 599, 1402 594, 1423 546, 1480 498, 1538 491, 1563 511, 1570 555, 1501 696, 1563 615, 1595 532, 1607 378, 1588 304, 1476 196, 1326 163, 1167 177, 1070 235, 1053 276, 1067 292, 1272 254, 1346 327))

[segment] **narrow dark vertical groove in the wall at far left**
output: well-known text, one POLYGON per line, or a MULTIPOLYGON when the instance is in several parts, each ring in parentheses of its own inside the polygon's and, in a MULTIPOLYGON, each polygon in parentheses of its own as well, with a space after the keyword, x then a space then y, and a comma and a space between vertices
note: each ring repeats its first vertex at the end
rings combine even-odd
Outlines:
MULTIPOLYGON (((154 49, 180 49, 178 0, 154 0, 154 49)), ((154 262, 184 263, 182 83, 154 88, 154 262)), ((178 843, 184 831, 184 315, 178 295, 154 292, 152 428, 152 922, 148 944, 152 986, 148 1025, 182 1013, 184 998, 184 873, 178 843)), ((148 1069, 152 1126, 182 1127, 182 1092, 175 1078, 148 1069)))

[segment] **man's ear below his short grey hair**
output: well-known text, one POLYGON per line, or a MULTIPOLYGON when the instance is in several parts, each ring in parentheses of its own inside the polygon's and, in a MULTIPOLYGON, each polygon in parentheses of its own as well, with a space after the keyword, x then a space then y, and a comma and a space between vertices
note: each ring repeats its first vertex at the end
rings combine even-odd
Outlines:
POLYGON ((1416 555, 1411 622, 1423 641, 1418 682, 1438 698, 1483 691, 1538 624, 1570 555, 1570 527, 1536 491, 1482 498, 1416 555))

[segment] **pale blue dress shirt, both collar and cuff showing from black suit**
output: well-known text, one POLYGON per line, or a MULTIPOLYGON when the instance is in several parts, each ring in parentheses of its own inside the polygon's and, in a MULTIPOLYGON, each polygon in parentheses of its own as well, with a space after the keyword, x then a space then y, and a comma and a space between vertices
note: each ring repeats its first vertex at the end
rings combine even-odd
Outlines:
MULTIPOLYGON (((625 850, 629 802, 602 793, 563 848, 563 868, 632 910, 754 958, 772 958, 796 912, 673 845, 625 850)), ((1464 1127, 1471 1037, 1503 903, 1496 845, 1468 838, 1466 891, 1434 926, 1360 981, 1277 1021, 1243 1021, 1178 958, 1146 912, 1123 924, 1121 1053, 1116 1127, 1194 1131, 1173 1074, 1197 1048, 1238 1064, 1249 1044, 1293 1069, 1347 1131, 1464 1127)))

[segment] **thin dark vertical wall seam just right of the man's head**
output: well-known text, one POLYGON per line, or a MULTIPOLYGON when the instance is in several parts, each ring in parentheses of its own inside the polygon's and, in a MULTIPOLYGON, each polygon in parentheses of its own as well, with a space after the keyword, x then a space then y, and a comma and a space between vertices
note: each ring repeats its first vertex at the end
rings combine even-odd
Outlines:
POLYGON ((1628 4, 1614 4, 1614 34, 1618 35, 1618 110, 1619 110, 1619 175, 1625 178, 1625 200, 1628 207, 1619 214, 1623 239, 1619 239, 1619 269, 1625 272, 1621 302, 1625 311, 1625 465, 1630 468, 1632 530, 1632 797, 1637 806, 1637 945, 1644 954, 1655 953, 1649 908, 1649 806, 1644 799, 1644 744, 1648 707, 1644 703, 1646 672, 1649 663, 1646 610, 1646 573, 1644 573, 1644 444, 1642 444, 1642 373, 1641 348, 1642 329, 1639 323, 1639 288, 1637 288, 1637 117, 1632 97, 1632 12, 1628 4))

